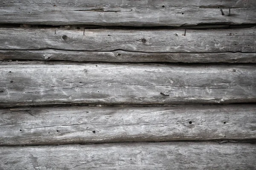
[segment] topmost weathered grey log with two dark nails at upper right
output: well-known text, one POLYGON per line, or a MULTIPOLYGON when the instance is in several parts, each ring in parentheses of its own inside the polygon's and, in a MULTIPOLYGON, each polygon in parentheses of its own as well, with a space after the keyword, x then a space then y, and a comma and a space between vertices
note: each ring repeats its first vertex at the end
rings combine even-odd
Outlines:
POLYGON ((100 26, 255 24, 254 0, 2 0, 0 23, 100 26))

